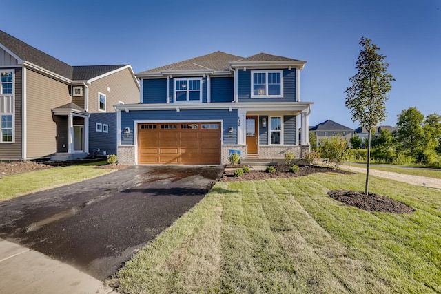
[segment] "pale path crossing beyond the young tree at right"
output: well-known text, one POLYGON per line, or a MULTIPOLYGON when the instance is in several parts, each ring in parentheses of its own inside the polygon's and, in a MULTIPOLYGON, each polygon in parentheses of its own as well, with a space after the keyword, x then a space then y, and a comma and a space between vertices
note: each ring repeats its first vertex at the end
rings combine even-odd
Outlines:
MULTIPOLYGON (((354 172, 366 174, 366 167, 352 167, 349 165, 342 165, 341 168, 347 169, 348 171, 354 171, 354 172)), ((406 182, 407 184, 411 184, 411 185, 423 186, 423 187, 441 190, 441 180, 438 178, 411 176, 411 175, 394 173, 392 171, 379 171, 377 169, 369 169, 369 174, 371 176, 378 176, 381 178, 390 178, 391 180, 396 180, 398 182, 406 182)))

